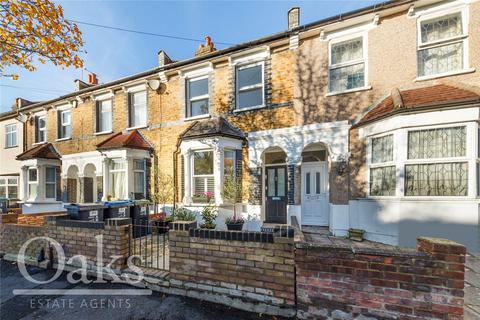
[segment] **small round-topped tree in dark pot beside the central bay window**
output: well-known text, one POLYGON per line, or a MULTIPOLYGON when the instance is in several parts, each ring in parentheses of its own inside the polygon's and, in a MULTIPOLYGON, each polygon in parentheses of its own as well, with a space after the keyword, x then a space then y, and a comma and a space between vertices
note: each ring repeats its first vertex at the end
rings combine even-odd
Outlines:
POLYGON ((241 199, 242 195, 242 182, 241 179, 236 179, 233 173, 224 177, 222 197, 226 203, 232 205, 233 216, 225 219, 225 224, 228 230, 241 231, 245 220, 237 216, 237 203, 241 199))

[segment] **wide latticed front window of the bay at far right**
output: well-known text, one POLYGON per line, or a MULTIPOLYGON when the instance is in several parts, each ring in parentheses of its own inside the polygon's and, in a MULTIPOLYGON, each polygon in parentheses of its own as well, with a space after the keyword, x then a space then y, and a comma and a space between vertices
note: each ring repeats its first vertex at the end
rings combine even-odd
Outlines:
POLYGON ((466 196, 465 126, 408 132, 406 196, 466 196))

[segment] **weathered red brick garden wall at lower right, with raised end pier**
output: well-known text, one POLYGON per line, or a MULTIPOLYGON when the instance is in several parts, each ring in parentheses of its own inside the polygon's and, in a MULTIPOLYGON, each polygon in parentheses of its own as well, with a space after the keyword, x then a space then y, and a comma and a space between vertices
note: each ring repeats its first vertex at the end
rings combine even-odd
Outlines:
POLYGON ((297 316, 462 319, 465 247, 419 238, 417 250, 297 245, 297 316))

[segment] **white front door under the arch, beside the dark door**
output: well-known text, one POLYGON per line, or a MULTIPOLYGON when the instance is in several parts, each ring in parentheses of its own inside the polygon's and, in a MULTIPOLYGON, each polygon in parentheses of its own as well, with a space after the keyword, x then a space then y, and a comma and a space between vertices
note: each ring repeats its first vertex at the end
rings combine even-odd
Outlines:
POLYGON ((302 164, 302 225, 328 226, 326 162, 302 164))

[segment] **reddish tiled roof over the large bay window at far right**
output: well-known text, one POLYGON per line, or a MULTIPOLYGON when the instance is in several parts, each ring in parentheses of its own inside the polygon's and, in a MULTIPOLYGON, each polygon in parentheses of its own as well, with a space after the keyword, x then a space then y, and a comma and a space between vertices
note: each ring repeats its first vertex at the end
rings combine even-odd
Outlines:
POLYGON ((402 91, 394 88, 391 94, 370 109, 356 126, 392 114, 468 102, 480 102, 480 95, 446 84, 402 91))

